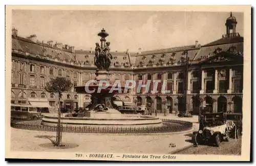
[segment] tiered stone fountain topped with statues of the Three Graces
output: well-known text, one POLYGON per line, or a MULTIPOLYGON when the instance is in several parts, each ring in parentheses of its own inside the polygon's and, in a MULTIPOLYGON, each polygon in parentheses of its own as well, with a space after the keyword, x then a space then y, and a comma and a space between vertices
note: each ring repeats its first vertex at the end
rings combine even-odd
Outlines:
MULTIPOLYGON (((74 117, 72 114, 64 114, 61 117, 61 124, 67 127, 95 127, 98 130, 109 131, 109 127, 112 128, 125 128, 125 130, 120 130, 120 132, 129 132, 128 129, 134 130, 134 132, 140 132, 138 128, 150 128, 155 132, 156 128, 162 128, 163 123, 159 117, 140 115, 140 114, 122 114, 116 109, 114 104, 114 95, 120 91, 124 93, 124 87, 119 87, 118 90, 113 90, 115 85, 110 80, 109 67, 112 60, 112 55, 110 53, 110 42, 106 42, 106 37, 109 36, 104 29, 98 34, 101 37, 101 45, 96 43, 95 48, 95 60, 94 63, 97 66, 96 78, 92 81, 91 85, 78 86, 75 87, 77 93, 91 94, 91 104, 89 105, 89 110, 83 114, 82 117, 74 117), (65 117, 66 116, 66 117, 65 117), (103 129, 102 129, 103 128, 103 129)), ((168 120, 169 121, 169 120, 168 120)), ((56 126, 57 125, 57 115, 46 115, 42 118, 41 125, 45 126, 56 126)), ((172 129, 170 126, 174 125, 179 128, 179 123, 169 123, 168 127, 163 130, 169 131, 172 129)), ((84 129, 86 130, 86 129, 84 129)), ((157 129, 158 130, 158 129, 157 129)), ((144 129, 141 132, 144 132, 144 129)), ((145 129, 146 131, 146 129, 145 129)), ((150 130, 147 130, 150 132, 150 130)), ((159 130, 160 131, 160 130, 159 130)), ((86 132, 86 131, 85 131, 86 132)), ((92 131, 90 131, 92 132, 92 131)))

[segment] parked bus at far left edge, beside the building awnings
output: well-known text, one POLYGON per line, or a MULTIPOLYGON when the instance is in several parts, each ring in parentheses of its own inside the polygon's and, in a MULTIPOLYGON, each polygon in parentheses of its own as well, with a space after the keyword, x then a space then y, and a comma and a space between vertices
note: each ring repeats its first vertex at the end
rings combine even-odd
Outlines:
POLYGON ((41 113, 35 111, 37 108, 31 105, 11 105, 11 119, 38 120, 41 113))

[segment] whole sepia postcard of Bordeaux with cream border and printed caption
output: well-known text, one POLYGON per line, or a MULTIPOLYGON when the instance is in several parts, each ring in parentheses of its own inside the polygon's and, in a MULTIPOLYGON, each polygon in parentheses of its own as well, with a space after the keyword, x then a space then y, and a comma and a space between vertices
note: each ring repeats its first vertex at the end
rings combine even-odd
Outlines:
POLYGON ((6 6, 6 159, 249 161, 250 6, 6 6))

